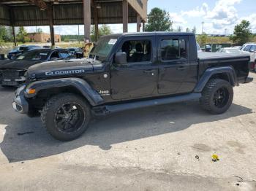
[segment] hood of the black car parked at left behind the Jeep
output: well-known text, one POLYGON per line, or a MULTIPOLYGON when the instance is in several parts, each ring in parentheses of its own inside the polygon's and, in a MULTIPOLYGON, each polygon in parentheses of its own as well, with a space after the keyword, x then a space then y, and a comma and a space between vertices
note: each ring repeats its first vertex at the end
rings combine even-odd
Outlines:
POLYGON ((36 63, 42 63, 43 61, 18 61, 18 60, 8 60, 0 62, 0 69, 29 69, 30 66, 36 63))

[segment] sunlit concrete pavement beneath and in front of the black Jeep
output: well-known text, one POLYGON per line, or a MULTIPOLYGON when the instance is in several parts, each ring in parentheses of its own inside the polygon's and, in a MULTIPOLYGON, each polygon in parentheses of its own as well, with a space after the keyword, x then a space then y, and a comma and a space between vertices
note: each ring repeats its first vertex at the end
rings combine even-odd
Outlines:
POLYGON ((0 190, 256 190, 256 81, 234 92, 225 114, 198 101, 137 109, 60 142, 0 88, 0 190))

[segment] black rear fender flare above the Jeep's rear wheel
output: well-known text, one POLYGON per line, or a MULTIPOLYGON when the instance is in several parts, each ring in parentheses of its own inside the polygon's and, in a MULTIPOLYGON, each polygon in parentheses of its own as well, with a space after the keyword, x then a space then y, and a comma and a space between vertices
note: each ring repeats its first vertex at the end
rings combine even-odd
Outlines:
POLYGON ((195 92, 200 93, 203 91, 203 87, 206 86, 208 80, 215 74, 227 74, 230 84, 235 86, 237 84, 236 71, 232 66, 220 66, 211 69, 206 69, 203 76, 199 79, 197 86, 195 87, 195 92))

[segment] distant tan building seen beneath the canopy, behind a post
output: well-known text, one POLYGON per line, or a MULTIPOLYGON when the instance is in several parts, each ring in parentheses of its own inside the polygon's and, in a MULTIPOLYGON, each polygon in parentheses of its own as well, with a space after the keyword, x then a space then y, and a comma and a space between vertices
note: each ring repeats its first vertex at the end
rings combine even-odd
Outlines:
MULTIPOLYGON (((28 33, 30 42, 50 42, 50 34, 47 33, 28 33)), ((61 35, 54 34, 54 41, 61 42, 61 35)))

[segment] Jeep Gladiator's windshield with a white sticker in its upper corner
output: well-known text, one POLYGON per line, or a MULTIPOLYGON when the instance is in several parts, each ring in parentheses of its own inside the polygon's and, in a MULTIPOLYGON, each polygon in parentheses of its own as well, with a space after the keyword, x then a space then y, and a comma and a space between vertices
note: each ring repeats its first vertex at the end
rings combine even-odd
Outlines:
POLYGON ((116 44, 118 36, 104 36, 97 44, 94 45, 94 48, 91 50, 89 58, 96 57, 99 60, 104 60, 110 54, 112 47, 116 44))

